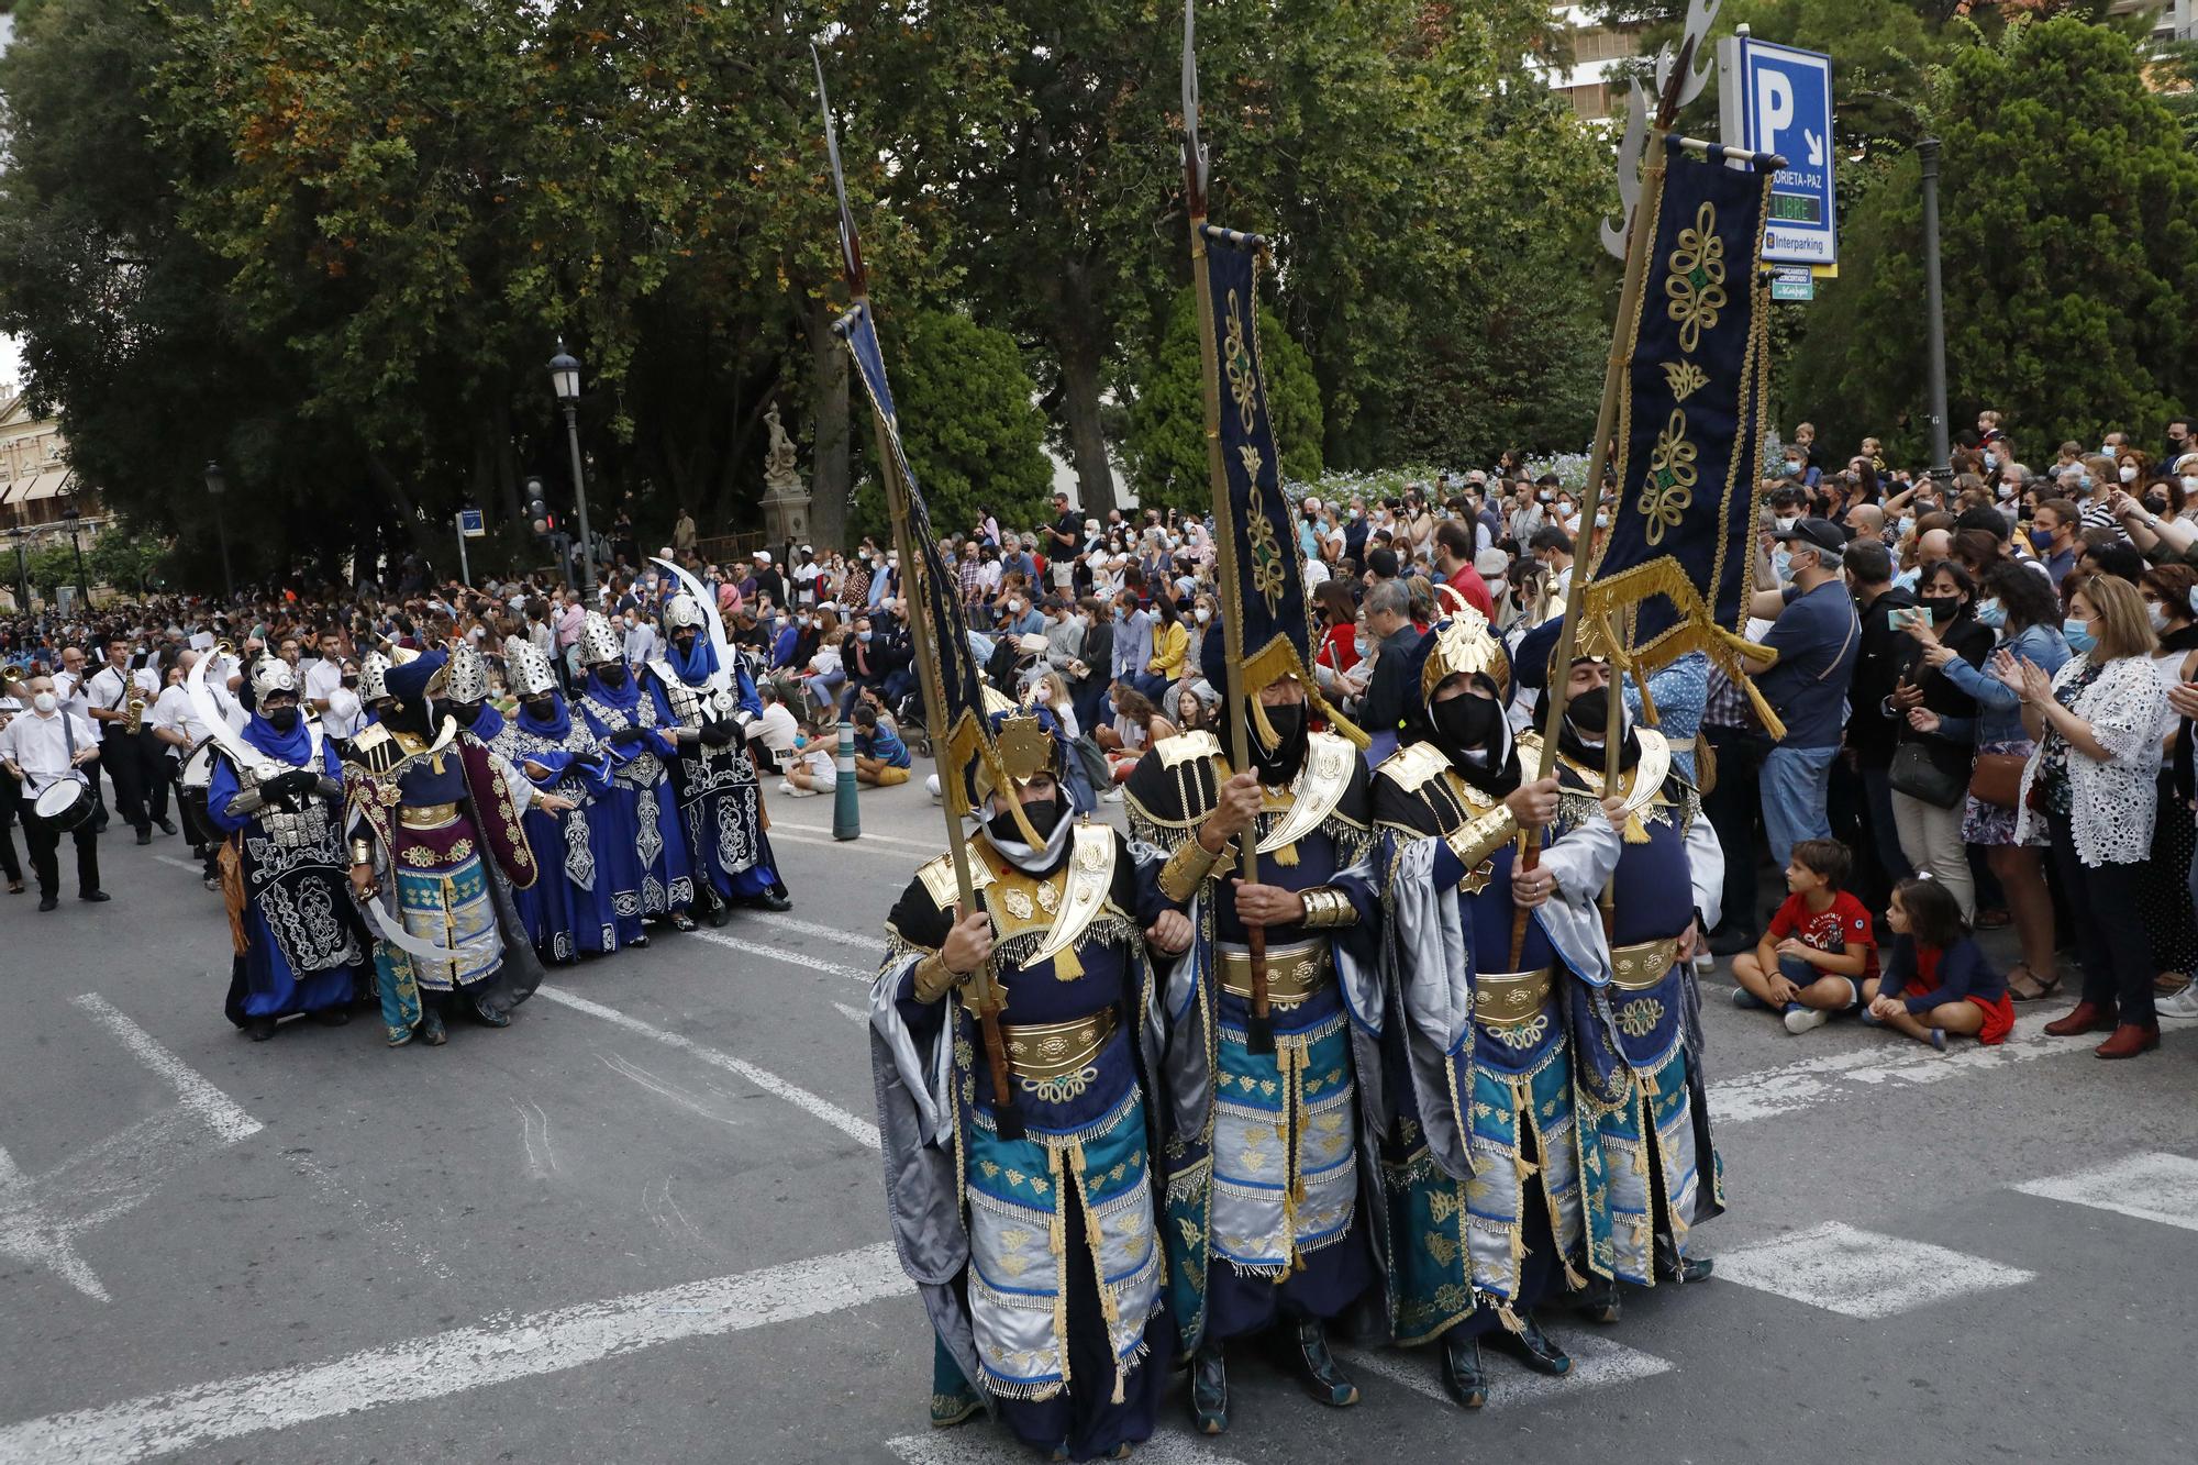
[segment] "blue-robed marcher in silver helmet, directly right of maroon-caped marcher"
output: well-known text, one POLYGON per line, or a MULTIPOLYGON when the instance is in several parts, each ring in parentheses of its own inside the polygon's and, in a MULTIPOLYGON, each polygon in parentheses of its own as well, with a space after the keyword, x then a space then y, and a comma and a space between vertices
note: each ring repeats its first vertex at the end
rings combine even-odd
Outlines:
POLYGON ((503 642, 503 682, 519 700, 490 743, 541 796, 521 823, 541 871, 514 891, 534 950, 550 961, 576 961, 618 950, 611 893, 596 864, 591 805, 611 792, 611 759, 587 726, 574 722, 556 689, 556 669, 525 636, 503 642))

